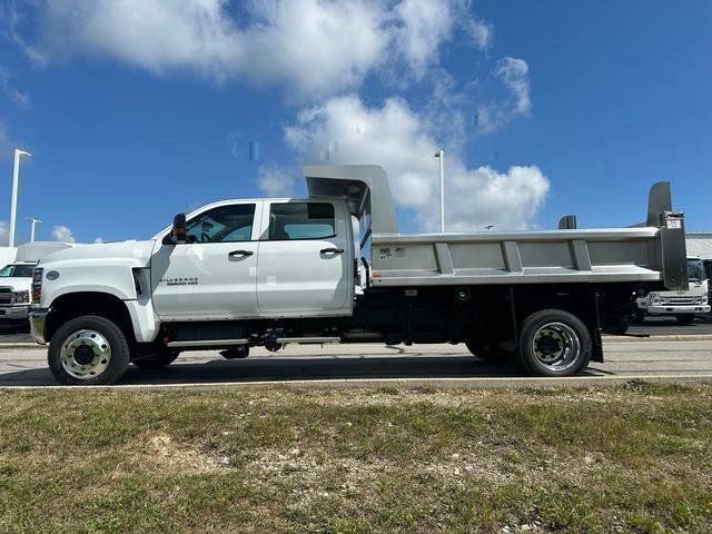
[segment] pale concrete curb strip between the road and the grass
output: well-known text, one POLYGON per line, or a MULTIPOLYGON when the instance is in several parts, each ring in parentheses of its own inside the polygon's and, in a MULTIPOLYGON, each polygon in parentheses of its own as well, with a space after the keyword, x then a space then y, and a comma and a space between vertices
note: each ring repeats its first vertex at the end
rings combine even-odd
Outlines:
POLYGON ((403 389, 551 389, 613 387, 625 384, 712 384, 712 375, 616 375, 570 376, 564 378, 365 378, 333 380, 236 382, 205 384, 130 384, 117 386, 1 386, 0 392, 95 390, 95 392, 319 392, 398 387, 403 389))

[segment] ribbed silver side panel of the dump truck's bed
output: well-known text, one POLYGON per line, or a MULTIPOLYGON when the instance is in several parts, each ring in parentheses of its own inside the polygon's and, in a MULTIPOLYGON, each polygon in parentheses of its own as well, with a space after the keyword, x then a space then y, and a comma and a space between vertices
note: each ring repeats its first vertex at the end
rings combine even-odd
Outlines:
POLYGON ((375 235, 375 286, 656 281, 660 228, 375 235))

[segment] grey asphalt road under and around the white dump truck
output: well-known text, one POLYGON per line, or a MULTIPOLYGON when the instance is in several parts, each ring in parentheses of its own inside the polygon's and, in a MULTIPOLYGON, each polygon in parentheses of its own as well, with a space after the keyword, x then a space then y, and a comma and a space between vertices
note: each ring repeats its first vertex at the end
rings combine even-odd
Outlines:
MULTIPOLYGON (((712 334, 712 322, 696 320, 681 326, 674 319, 649 319, 631 333, 651 337, 606 337, 605 363, 592 363, 583 376, 712 377, 712 337, 706 338, 712 334)), ((0 328, 0 387, 55 384, 47 368, 46 347, 22 346, 28 340, 27 332, 0 328)), ((290 345, 279 353, 253 348, 249 358, 239 360, 226 360, 217 352, 187 352, 165 369, 142 370, 131 366, 121 383, 188 385, 477 377, 517 380, 521 374, 505 364, 477 360, 464 345, 290 345)))

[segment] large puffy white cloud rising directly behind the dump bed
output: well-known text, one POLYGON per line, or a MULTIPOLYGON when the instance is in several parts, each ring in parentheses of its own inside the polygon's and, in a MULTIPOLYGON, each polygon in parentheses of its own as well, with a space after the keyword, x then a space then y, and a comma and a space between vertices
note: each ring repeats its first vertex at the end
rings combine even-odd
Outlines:
MULTIPOLYGON (((388 99, 368 108, 356 96, 328 99, 301 110, 285 129, 287 144, 304 159, 318 160, 329 144, 338 144, 334 160, 383 166, 399 208, 414 210, 422 229, 438 222, 438 148, 427 117, 403 100, 388 99)), ((542 206, 548 179, 535 166, 512 167, 506 172, 490 167, 467 168, 456 151, 447 152, 446 220, 448 230, 524 229, 542 206)))

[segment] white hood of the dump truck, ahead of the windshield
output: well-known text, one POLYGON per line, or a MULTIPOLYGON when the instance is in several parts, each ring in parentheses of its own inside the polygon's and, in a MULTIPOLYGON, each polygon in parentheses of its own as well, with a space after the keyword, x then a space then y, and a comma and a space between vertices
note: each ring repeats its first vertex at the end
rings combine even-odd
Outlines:
POLYGON ((150 261, 155 245, 156 241, 154 239, 80 245, 49 254, 40 260, 38 266, 44 269, 59 268, 61 266, 117 264, 129 267, 146 267, 150 261))

